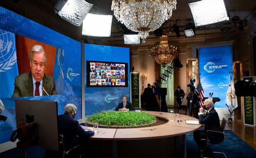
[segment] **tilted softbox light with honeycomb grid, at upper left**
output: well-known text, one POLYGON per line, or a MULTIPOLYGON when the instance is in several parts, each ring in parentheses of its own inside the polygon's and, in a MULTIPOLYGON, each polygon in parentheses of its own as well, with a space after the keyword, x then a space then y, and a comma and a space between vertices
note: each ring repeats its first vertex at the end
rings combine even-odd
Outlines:
POLYGON ((58 0, 54 10, 64 20, 80 26, 92 6, 85 0, 58 0))

